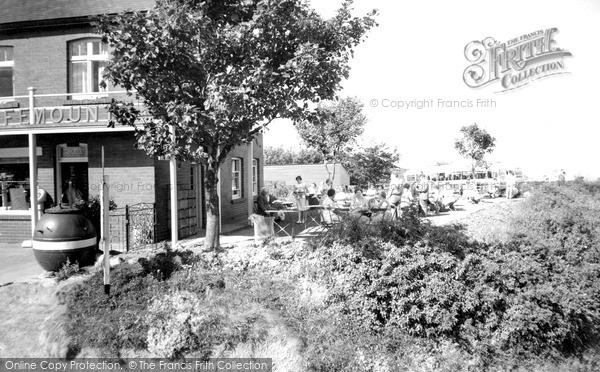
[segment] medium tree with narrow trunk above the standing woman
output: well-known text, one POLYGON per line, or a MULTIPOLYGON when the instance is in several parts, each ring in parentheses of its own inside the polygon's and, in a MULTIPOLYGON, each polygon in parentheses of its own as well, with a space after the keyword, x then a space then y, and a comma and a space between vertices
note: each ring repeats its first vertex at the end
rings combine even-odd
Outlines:
POLYGON ((322 102, 310 117, 295 122, 296 129, 308 147, 323 155, 323 163, 332 181, 335 165, 349 153, 348 149, 363 133, 367 118, 362 114, 363 104, 356 97, 322 102), (329 164, 333 170, 329 170, 329 164))

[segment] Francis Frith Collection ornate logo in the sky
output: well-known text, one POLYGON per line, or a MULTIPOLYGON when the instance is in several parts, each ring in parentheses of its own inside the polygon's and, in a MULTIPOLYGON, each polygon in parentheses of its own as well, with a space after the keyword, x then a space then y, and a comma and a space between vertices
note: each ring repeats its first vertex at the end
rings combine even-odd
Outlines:
POLYGON ((557 47, 557 32, 557 28, 548 28, 504 43, 491 37, 470 42, 465 47, 465 57, 472 64, 464 71, 465 83, 479 88, 498 82, 500 91, 507 91, 566 73, 564 57, 571 53, 557 47))

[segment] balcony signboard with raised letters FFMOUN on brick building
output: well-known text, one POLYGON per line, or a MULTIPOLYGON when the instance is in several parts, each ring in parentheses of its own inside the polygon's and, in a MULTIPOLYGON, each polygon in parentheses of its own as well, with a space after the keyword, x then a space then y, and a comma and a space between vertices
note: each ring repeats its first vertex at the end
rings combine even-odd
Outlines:
MULTIPOLYGON (((108 122, 110 114, 106 106, 61 106, 34 108, 33 125, 64 126, 65 124, 91 124, 108 122)), ((0 111, 0 128, 30 125, 29 109, 0 111)))

